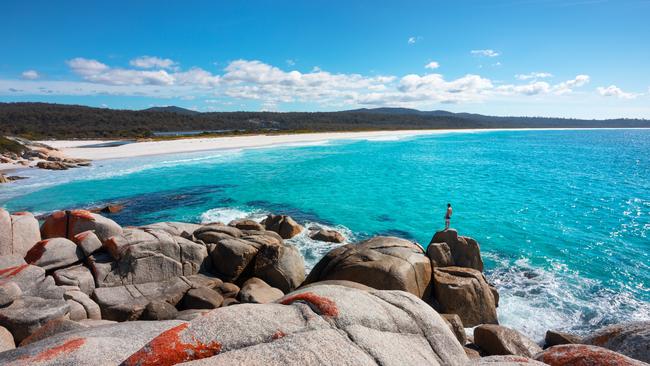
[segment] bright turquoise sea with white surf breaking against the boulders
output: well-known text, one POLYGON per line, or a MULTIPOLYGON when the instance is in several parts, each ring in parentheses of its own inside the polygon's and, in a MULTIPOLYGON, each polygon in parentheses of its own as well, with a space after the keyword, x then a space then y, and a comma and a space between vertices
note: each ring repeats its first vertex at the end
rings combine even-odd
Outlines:
MULTIPOLYGON (((125 201, 124 225, 266 212, 351 240, 476 238, 500 320, 540 339, 650 319, 650 130, 501 131, 98 162, 0 191, 10 210, 125 201)), ((331 246, 297 238, 312 266, 331 246)))

